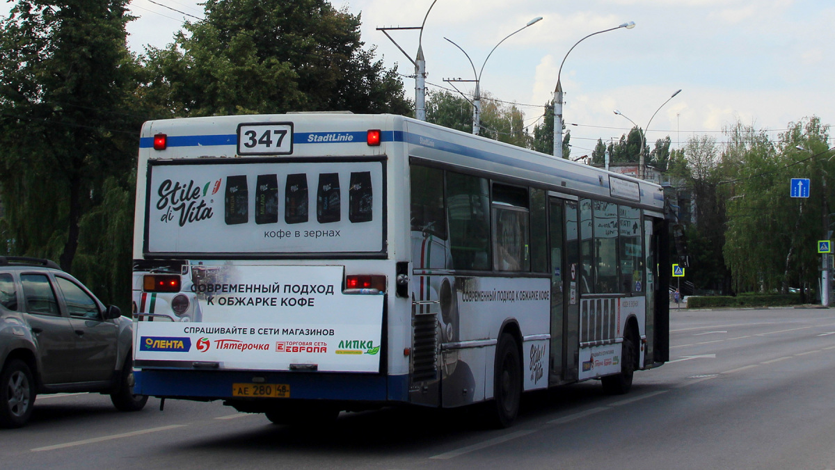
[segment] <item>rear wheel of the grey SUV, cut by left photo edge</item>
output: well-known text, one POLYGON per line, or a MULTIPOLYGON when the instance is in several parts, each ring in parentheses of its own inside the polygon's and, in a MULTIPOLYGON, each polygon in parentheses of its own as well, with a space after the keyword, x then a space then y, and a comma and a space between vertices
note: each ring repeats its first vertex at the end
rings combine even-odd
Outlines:
POLYGON ((32 416, 35 382, 26 362, 8 361, 0 373, 0 427, 22 427, 32 416))

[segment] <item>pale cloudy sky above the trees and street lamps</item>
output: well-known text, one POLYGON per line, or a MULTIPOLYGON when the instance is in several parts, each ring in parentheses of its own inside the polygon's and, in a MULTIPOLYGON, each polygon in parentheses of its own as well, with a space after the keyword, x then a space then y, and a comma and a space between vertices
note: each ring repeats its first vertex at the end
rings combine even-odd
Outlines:
MULTIPOLYGON (((701 134, 721 143, 722 130, 737 122, 772 139, 789 123, 812 115, 823 124, 835 124, 832 0, 331 3, 362 15, 365 47, 376 48, 387 67, 397 66, 409 98, 414 98, 415 85, 409 58, 417 54, 418 38, 430 90, 452 89, 444 79, 475 78, 467 57, 448 38, 467 51, 476 70, 483 70, 482 92, 517 104, 531 129, 553 98, 564 61, 559 79, 573 158, 591 154, 597 139, 620 139, 633 126, 624 116, 648 129, 648 141, 669 135, 674 147, 701 134), (514 33, 536 17, 543 19, 514 33), (389 32, 408 57, 377 30, 419 27, 424 18, 423 35, 417 30, 389 32), (635 22, 635 28, 586 38, 627 22, 635 22)), ((0 14, 10 7, 8 3, 0 14)), ((148 45, 164 47, 184 18, 197 21, 203 16, 191 0, 133 0, 130 9, 139 17, 128 26, 129 47, 135 53, 148 45)), ((457 86, 473 90, 473 83, 457 86)))

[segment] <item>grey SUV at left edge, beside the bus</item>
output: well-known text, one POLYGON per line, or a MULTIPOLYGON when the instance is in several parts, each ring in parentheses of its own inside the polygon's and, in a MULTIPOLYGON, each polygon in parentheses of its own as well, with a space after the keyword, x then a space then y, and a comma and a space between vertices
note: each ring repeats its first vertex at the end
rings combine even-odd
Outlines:
POLYGON ((41 393, 99 392, 135 412, 133 321, 50 260, 0 256, 0 427, 22 427, 41 393))

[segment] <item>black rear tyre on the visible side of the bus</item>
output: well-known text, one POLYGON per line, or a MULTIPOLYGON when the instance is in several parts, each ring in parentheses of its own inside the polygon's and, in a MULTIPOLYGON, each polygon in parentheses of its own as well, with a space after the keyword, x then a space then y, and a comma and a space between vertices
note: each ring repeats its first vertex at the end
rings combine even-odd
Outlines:
POLYGON ((519 345, 513 335, 503 333, 496 346, 496 363, 493 369, 494 427, 504 428, 513 424, 519 414, 522 401, 522 361, 519 345))

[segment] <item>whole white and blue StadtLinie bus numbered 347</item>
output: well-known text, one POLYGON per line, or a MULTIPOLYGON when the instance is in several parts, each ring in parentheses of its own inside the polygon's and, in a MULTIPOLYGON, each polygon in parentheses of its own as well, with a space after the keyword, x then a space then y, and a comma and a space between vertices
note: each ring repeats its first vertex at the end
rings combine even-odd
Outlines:
POLYGON ((659 185, 390 114, 144 124, 135 391, 272 422, 669 360, 659 185))

